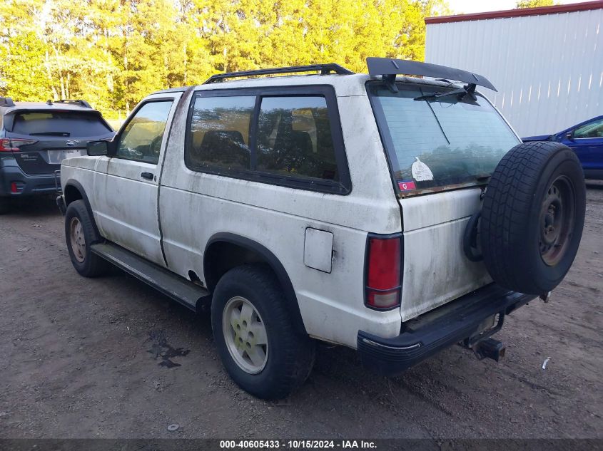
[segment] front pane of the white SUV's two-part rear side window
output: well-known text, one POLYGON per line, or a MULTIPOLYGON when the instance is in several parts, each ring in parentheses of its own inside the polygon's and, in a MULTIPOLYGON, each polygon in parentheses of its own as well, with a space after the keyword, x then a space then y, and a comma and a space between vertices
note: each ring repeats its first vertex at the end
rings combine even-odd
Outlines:
POLYGON ((193 105, 186 165, 195 170, 249 170, 255 97, 198 97, 193 105))

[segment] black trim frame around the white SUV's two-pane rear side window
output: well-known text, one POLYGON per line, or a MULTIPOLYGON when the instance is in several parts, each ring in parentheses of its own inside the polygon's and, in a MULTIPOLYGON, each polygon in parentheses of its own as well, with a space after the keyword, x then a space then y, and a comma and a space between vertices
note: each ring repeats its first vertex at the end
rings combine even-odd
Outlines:
POLYGON ((186 131, 184 141, 184 164, 193 172, 218 175, 221 177, 230 177, 250 182, 260 182, 269 185, 278 185, 283 187, 295 188, 298 190, 307 190, 315 192, 325 192, 335 195, 349 195, 352 192, 352 182, 350 179, 350 170, 348 167, 348 157, 345 153, 345 144, 343 142, 343 131, 335 89, 331 85, 295 85, 295 86, 270 86, 257 88, 223 88, 196 90, 191 95, 188 105, 188 115, 186 118, 186 131), (250 165, 256 166, 257 162, 257 130, 260 105, 262 98, 265 97, 323 97, 327 104, 328 118, 331 126, 331 136, 333 138, 333 150, 335 152, 335 162, 337 163, 340 180, 318 179, 314 177, 298 177, 294 175, 276 174, 274 172, 262 172, 259 170, 228 170, 221 167, 198 167, 188 164, 186 155, 191 148, 191 122, 193 118, 193 109, 197 98, 200 97, 233 97, 246 96, 255 97, 255 106, 250 118, 249 147, 250 147, 250 165))

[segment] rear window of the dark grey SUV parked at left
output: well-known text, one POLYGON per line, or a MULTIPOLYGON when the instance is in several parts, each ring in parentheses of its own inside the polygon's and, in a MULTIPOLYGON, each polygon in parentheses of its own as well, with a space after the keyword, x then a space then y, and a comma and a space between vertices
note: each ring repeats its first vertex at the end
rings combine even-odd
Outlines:
POLYGON ((97 113, 79 111, 31 111, 16 113, 13 133, 32 136, 89 138, 108 135, 108 128, 97 113))

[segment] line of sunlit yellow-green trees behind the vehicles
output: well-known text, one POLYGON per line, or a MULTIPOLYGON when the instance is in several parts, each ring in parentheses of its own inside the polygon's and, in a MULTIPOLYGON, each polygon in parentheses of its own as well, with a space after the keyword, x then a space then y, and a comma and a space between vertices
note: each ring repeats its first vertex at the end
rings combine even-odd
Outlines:
POLYGON ((0 95, 88 100, 123 118, 213 73, 365 58, 421 61, 444 0, 3 0, 0 95))

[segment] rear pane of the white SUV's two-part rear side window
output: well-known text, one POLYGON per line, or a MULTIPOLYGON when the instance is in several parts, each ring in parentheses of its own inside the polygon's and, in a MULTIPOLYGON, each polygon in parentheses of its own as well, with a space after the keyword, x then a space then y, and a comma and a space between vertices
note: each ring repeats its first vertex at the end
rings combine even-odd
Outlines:
POLYGON ((338 180, 323 97, 267 97, 258 118, 257 170, 338 180))

